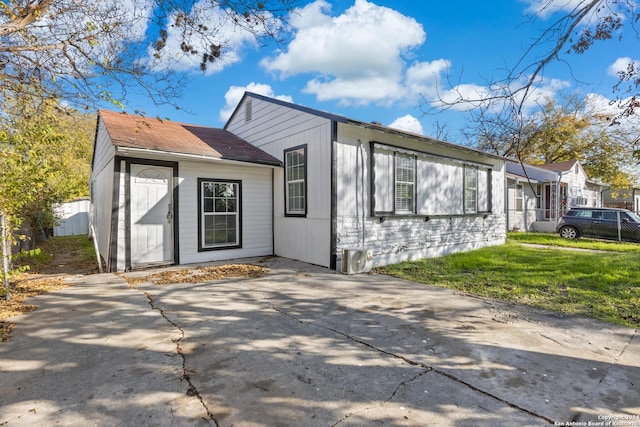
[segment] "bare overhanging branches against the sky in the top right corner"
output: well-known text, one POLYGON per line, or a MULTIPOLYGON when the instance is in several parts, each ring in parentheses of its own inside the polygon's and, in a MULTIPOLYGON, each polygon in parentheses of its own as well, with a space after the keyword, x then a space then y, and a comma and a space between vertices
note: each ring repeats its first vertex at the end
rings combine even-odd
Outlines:
MULTIPOLYGON (((505 137, 511 138, 509 145, 518 147, 526 143, 528 110, 541 101, 542 86, 548 82, 544 73, 551 64, 561 62, 570 67, 570 55, 586 54, 596 43, 606 40, 635 37, 640 41, 636 28, 640 8, 634 0, 530 0, 529 3, 532 4, 530 11, 533 13, 529 17, 532 22, 546 18, 551 21, 520 59, 508 66, 506 75, 475 91, 469 91, 464 85, 450 84, 451 90, 445 96, 435 101, 423 98, 420 107, 424 114, 437 114, 451 108, 477 109, 473 118, 477 122, 489 113, 492 117, 488 118, 490 122, 484 133, 490 135, 500 127, 505 137)), ((630 60, 618 72, 618 78, 612 88, 618 111, 606 117, 611 125, 619 125, 625 118, 634 116, 640 107, 640 63, 630 60)), ((499 133, 497 131, 493 137, 499 133)), ((483 144, 490 146, 491 140, 489 138, 483 144)), ((628 142, 633 156, 640 161, 640 141, 635 138, 628 142)))

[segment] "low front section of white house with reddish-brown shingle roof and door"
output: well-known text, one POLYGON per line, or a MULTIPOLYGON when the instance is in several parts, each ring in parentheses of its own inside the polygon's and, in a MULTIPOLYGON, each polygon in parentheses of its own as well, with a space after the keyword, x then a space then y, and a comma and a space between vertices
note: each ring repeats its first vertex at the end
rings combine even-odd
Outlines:
POLYGON ((276 167, 222 129, 100 111, 90 218, 107 270, 273 254, 276 167))

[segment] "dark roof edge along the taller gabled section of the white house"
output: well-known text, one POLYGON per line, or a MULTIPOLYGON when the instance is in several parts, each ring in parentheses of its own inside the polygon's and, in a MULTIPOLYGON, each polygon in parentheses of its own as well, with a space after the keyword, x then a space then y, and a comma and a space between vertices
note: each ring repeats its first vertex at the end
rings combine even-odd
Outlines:
POLYGON ((283 101, 281 99, 270 98, 268 96, 260 95, 260 94, 253 93, 253 92, 245 92, 244 93, 244 95, 242 96, 242 99, 240 100, 240 102, 238 102, 238 105, 236 106, 235 110, 233 111, 233 113, 231 113, 231 116, 229 116, 229 120, 227 120, 227 123, 225 124, 225 128, 227 126, 229 126, 229 123, 231 123, 231 121, 233 120, 233 117, 236 114, 239 114, 240 106, 243 104, 245 98, 247 98, 247 97, 251 97, 251 98, 259 99, 259 100, 262 100, 262 101, 270 102, 272 104, 276 104, 276 105, 280 105, 280 106, 283 106, 283 107, 291 108, 291 109, 296 110, 296 111, 302 111, 302 112, 305 112, 305 113, 308 113, 308 114, 313 114, 314 116, 323 117, 325 119, 328 119, 328 120, 331 120, 331 121, 334 121, 334 122, 338 122, 338 123, 345 123, 345 124, 355 125, 355 126, 362 127, 364 129, 374 129, 374 130, 378 130, 380 132, 384 132, 384 133, 390 134, 390 135, 396 135, 396 136, 400 136, 400 137, 411 138, 412 140, 419 140, 419 141, 424 141, 424 142, 428 142, 428 143, 432 143, 432 144, 436 144, 436 145, 447 146, 447 147, 450 147, 450 148, 457 149, 459 151, 463 151, 465 153, 482 155, 482 156, 486 156, 486 157, 490 157, 490 158, 494 158, 494 159, 507 160, 503 156, 498 156, 496 154, 487 153, 485 151, 476 150, 476 149, 473 149, 473 148, 465 147, 463 145, 454 144, 454 143, 448 142, 448 141, 442 141, 442 140, 439 140, 439 139, 430 138, 428 136, 417 134, 417 133, 412 133, 412 132, 407 132, 407 131, 404 131, 404 130, 390 128, 390 127, 387 127, 387 126, 383 126, 382 124, 380 124, 378 122, 363 122, 363 121, 360 121, 360 120, 354 120, 354 119, 350 119, 348 117, 344 117, 344 116, 341 116, 341 115, 338 115, 338 114, 328 113, 328 112, 322 111, 322 110, 316 110, 314 108, 305 107, 304 105, 294 104, 292 102, 283 101))

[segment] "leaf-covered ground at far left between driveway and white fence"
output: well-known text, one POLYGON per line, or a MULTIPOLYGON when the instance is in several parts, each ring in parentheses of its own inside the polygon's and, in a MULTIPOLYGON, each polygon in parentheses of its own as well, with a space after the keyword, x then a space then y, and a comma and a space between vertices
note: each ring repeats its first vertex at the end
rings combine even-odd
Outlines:
MULTIPOLYGON (((9 277, 9 296, 5 298, 4 283, 0 290, 0 342, 7 341, 14 324, 6 320, 37 309, 25 300, 71 286, 65 278, 94 274, 99 271, 90 249, 93 243, 86 236, 53 237, 38 245, 41 254, 25 257, 20 264, 29 268, 9 277)), ((14 267, 20 267, 15 265, 14 267)))

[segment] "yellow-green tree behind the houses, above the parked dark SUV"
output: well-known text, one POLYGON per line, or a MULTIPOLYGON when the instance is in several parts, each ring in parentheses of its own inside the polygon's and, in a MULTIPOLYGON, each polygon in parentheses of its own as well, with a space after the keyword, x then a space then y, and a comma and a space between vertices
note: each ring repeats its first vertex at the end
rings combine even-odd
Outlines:
POLYGON ((578 160, 592 179, 615 188, 633 185, 637 173, 630 146, 633 129, 610 126, 610 118, 598 114, 576 96, 563 103, 551 99, 527 116, 502 114, 479 108, 466 131, 477 148, 523 163, 544 164, 578 160))

